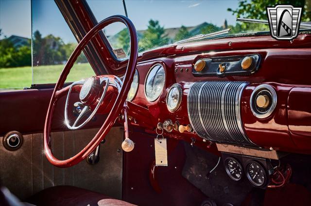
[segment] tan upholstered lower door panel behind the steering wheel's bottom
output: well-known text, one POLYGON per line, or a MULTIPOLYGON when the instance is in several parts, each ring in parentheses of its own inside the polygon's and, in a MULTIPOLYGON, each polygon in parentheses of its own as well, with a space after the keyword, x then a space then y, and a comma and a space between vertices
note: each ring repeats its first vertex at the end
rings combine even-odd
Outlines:
MULTIPOLYGON (((94 137, 98 128, 52 132, 52 150, 57 158, 77 154, 94 137)), ((47 160, 42 133, 23 135, 24 143, 16 151, 8 151, 0 137, 0 182, 21 200, 57 185, 71 185, 98 191, 121 199, 123 129, 113 127, 101 144, 100 161, 86 161, 70 168, 57 168, 47 160)))

